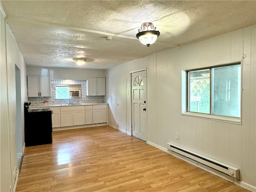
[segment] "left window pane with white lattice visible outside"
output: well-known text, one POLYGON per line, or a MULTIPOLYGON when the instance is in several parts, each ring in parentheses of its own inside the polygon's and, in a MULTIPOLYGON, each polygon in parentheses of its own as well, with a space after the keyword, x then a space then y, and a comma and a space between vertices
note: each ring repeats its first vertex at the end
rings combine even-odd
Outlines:
POLYGON ((210 113, 210 69, 188 72, 188 111, 210 113))

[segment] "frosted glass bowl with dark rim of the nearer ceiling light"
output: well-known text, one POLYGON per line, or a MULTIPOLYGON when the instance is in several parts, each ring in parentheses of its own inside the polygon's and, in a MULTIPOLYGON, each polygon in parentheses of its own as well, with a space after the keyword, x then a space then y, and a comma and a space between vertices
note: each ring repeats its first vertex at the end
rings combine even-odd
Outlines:
POLYGON ((160 35, 159 31, 150 30, 150 31, 138 32, 136 34, 136 37, 140 40, 142 44, 149 47, 151 44, 156 42, 156 39, 158 38, 159 35, 160 35))

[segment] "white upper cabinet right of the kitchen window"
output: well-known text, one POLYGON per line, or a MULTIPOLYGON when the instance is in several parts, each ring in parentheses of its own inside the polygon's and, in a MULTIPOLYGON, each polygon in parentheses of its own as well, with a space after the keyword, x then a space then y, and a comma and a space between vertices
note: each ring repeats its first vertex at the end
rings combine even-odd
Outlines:
POLYGON ((88 78, 86 81, 86 95, 106 95, 106 78, 88 78))

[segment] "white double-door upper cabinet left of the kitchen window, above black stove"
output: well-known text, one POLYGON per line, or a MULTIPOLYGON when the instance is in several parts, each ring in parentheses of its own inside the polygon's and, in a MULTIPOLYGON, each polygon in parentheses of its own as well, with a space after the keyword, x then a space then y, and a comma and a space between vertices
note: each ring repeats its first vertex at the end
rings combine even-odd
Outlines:
POLYGON ((28 97, 50 96, 50 76, 28 76, 28 97))

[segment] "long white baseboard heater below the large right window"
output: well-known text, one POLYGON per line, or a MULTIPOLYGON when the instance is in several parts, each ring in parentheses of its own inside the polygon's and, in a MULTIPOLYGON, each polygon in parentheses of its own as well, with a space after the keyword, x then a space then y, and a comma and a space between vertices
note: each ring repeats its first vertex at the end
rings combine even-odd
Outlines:
POLYGON ((192 152, 190 150, 187 150, 180 146, 176 146, 171 143, 167 143, 167 145, 168 145, 168 149, 170 149, 171 151, 176 152, 182 156, 188 157, 197 162, 200 162, 201 164, 204 164, 204 165, 209 166, 215 170, 218 170, 224 174, 227 174, 230 177, 232 177, 233 179, 236 179, 239 181, 239 169, 238 168, 232 167, 230 165, 224 164, 222 162, 216 161, 214 159, 208 158, 206 156, 192 152))

